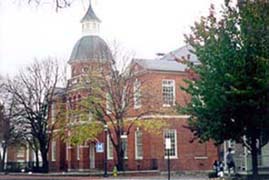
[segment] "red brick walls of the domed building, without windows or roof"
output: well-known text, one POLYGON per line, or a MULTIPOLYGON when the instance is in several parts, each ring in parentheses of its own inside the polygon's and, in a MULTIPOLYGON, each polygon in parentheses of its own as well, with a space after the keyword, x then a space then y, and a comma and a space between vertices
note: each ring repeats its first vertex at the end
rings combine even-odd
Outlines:
MULTIPOLYGON (((82 64, 77 65, 75 68, 81 69, 82 64)), ((142 99, 142 107, 138 110, 134 110, 133 107, 129 110, 128 116, 134 117, 142 110, 154 110, 162 112, 167 117, 164 119, 167 121, 170 129, 176 129, 177 131, 177 155, 176 159, 171 160, 172 170, 209 170, 212 168, 213 161, 217 159, 217 148, 212 142, 200 144, 197 141, 191 142, 193 134, 189 129, 185 128, 187 120, 184 118, 175 118, 178 116, 178 112, 174 107, 163 107, 162 102, 162 80, 175 80, 176 88, 176 102, 180 105, 185 105, 188 102, 188 95, 181 90, 181 86, 186 86, 184 79, 185 73, 173 73, 173 72, 154 72, 148 71, 141 74, 138 79, 142 82, 142 94, 150 92, 153 98, 142 99), (169 117, 170 115, 170 117, 169 117)), ((77 97, 78 94, 81 97, 87 96, 87 92, 69 91, 67 99, 69 97, 77 97)), ((142 95, 143 96, 143 95, 142 95)), ((140 127, 141 128, 141 127, 140 127)), ((143 131, 143 159, 135 159, 135 130, 133 127, 128 135, 128 160, 126 160, 126 167, 129 170, 137 169, 152 169, 157 168, 159 170, 166 170, 167 160, 164 158, 164 137, 163 130, 157 134, 152 134, 143 131)), ((101 142, 105 142, 104 134, 97 138, 101 142)), ((89 144, 89 143, 88 143, 89 144)), ((53 164, 54 170, 59 171, 66 168, 68 169, 89 169, 89 147, 83 146, 80 148, 80 160, 76 157, 76 147, 68 149, 68 161, 65 160, 65 144, 57 141, 57 161, 53 164), (58 150, 59 149, 59 150, 58 150), (58 153, 60 155, 58 155, 58 153), (65 165, 63 165, 65 164, 65 165)), ((112 170, 115 165, 116 154, 114 152, 114 159, 108 160, 108 169, 112 170)), ((95 167, 97 169, 104 168, 104 153, 95 153, 95 167)))

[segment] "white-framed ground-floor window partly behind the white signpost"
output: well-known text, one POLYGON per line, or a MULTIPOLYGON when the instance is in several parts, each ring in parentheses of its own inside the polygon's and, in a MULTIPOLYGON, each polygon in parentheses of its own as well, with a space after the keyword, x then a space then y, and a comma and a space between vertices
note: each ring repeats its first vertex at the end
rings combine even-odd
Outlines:
MULTIPOLYGON (((177 131, 175 129, 167 129, 164 131, 164 139, 170 138, 171 149, 165 149, 165 158, 177 158, 177 131)), ((165 141, 165 140, 164 140, 165 141)))

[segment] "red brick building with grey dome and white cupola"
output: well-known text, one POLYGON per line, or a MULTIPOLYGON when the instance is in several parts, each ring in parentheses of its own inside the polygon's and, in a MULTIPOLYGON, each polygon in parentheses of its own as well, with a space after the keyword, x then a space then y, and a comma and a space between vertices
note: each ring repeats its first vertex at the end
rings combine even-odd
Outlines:
MULTIPOLYGON (((91 5, 81 20, 83 36, 75 44, 68 61, 71 66, 71 78, 65 89, 59 89, 55 102, 51 105, 50 119, 55 121, 59 109, 68 110, 69 102, 76 102, 87 96, 87 92, 79 87, 85 72, 96 67, 96 62, 106 63, 112 59, 112 53, 105 41, 98 36, 100 20, 91 5), (63 105, 65 104, 65 105, 63 105)), ((158 169, 166 170, 167 155, 171 158, 171 169, 174 171, 209 170, 217 159, 217 148, 213 143, 200 144, 193 140, 192 133, 185 127, 187 116, 175 112, 176 104, 184 105, 188 96, 181 90, 188 72, 186 66, 175 60, 175 57, 187 57, 193 63, 196 57, 189 52, 188 46, 179 48, 157 59, 133 59, 130 66, 143 72, 134 83, 145 81, 139 86, 150 86, 155 93, 156 103, 150 104, 155 110, 161 109, 162 114, 150 114, 141 117, 147 119, 163 119, 169 128, 162 129, 158 134, 149 133, 133 126, 126 136, 125 168, 128 170, 158 169), (171 149, 164 149, 165 138, 170 138, 171 149)), ((135 86, 135 85, 134 85, 135 86)), ((143 87, 142 87, 143 89, 143 87)), ((132 118, 137 111, 149 106, 149 101, 141 100, 134 103, 129 111, 132 118)), ((68 132, 67 134, 68 135, 68 132)), ((89 141, 83 145, 70 146, 60 139, 51 142, 49 151, 50 171, 88 171, 103 169, 107 154, 108 169, 115 166, 115 150, 109 138, 102 133, 97 139, 106 144, 106 153, 98 153, 97 142, 89 141)))

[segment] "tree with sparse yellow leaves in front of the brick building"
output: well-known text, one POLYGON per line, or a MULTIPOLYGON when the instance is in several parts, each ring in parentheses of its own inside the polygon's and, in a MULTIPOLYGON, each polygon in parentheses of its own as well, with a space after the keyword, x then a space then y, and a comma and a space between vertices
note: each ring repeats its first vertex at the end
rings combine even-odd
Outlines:
POLYGON ((117 155, 118 169, 124 170, 124 145, 127 142, 121 138, 122 135, 128 135, 133 126, 158 131, 165 123, 162 120, 154 120, 153 123, 150 119, 143 123, 139 121, 147 115, 161 113, 152 106, 159 100, 151 83, 143 78, 144 71, 129 64, 131 56, 122 53, 118 47, 113 52, 111 61, 89 64, 87 72, 81 75, 81 83, 76 85, 76 89, 80 88, 87 95, 77 104, 69 101, 70 121, 63 129, 70 132, 70 136, 66 137, 69 142, 82 144, 96 137, 106 125, 117 155))

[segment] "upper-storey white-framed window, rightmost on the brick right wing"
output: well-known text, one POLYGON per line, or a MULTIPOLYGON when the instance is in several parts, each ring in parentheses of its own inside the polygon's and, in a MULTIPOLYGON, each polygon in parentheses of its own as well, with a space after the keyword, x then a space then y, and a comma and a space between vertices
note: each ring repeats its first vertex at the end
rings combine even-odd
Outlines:
POLYGON ((162 81, 163 106, 169 107, 175 105, 175 81, 162 81))

